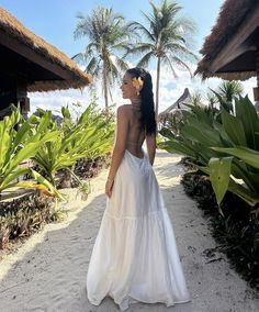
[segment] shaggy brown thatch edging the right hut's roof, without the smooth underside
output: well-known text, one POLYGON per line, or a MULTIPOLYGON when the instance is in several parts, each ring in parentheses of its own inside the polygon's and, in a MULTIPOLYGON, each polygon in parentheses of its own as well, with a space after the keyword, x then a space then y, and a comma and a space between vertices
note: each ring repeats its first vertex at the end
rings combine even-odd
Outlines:
MULTIPOLYGON (((230 70, 224 70, 224 68, 222 70, 212 70, 210 65, 216 59, 219 52, 229 43, 229 41, 235 35, 239 34, 238 31, 241 24, 249 23, 249 19, 246 19, 248 18, 248 14, 254 12, 255 7, 258 7, 258 0, 226 0, 223 3, 216 24, 213 26, 211 34, 206 36, 203 47, 200 51, 200 53, 203 54, 203 58, 199 63, 195 74, 200 74, 203 79, 217 76, 229 80, 245 80, 256 75, 254 69, 238 69, 235 67, 235 64, 232 64, 230 70)), ((258 19, 257 22, 259 25, 258 19)), ((249 49, 246 51, 246 53, 248 52, 249 49)), ((248 59, 251 59, 251 54, 248 59)))

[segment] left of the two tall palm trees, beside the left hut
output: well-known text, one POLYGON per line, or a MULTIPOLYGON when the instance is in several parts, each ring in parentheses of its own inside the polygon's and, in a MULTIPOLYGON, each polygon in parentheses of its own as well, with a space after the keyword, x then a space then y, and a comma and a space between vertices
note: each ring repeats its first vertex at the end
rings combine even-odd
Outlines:
POLYGON ((102 79, 108 109, 108 94, 110 92, 111 96, 111 86, 121 78, 120 71, 127 69, 124 56, 130 48, 128 27, 121 14, 115 14, 112 9, 102 7, 94 9, 91 15, 85 16, 79 13, 77 18, 79 22, 74 32, 75 38, 86 36, 89 43, 83 53, 78 53, 72 58, 87 64, 86 71, 97 79, 102 79))

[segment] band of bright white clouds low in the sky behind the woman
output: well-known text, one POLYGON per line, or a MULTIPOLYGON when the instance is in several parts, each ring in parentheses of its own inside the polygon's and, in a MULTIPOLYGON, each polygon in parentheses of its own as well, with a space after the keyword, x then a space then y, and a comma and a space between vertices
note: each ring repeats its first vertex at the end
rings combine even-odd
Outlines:
MULTIPOLYGON (((191 69, 195 69, 194 66, 191 69)), ((154 96, 156 90, 156 70, 149 70, 153 76, 154 96)), ((161 70, 160 88, 159 88, 159 112, 170 107, 177 99, 183 93, 184 88, 189 88, 190 92, 199 90, 204 96, 210 91, 209 88, 216 89, 218 83, 223 80, 218 78, 210 78, 205 81, 201 81, 200 78, 190 78, 189 73, 183 70, 177 70, 178 78, 173 78, 168 70, 161 70)), ((251 78, 247 81, 243 81, 245 94, 248 93, 250 100, 254 99, 252 88, 256 87, 256 78, 251 78)), ((97 83, 98 103, 101 108, 104 108, 104 100, 102 96, 102 83, 97 83)), ((75 102, 80 102, 82 108, 86 108, 92 99, 89 88, 80 90, 64 90, 53 92, 35 92, 29 94, 31 99, 31 112, 34 112, 37 107, 43 109, 49 109, 53 111, 60 111, 64 105, 71 105, 75 102)), ((120 86, 115 86, 112 89, 113 103, 116 107, 128 103, 128 100, 122 98, 120 86)), ((110 100, 111 103, 111 100, 110 100)))

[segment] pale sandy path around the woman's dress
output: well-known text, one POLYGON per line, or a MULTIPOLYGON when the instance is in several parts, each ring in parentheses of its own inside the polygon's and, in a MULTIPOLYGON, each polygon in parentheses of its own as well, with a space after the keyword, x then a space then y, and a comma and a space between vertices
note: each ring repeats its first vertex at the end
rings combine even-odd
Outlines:
MULTIPOLYGON (((176 165, 179 157, 159 152, 155 169, 162 190, 181 256, 192 301, 166 308, 164 304, 132 305, 127 311, 216 312, 259 311, 259 299, 239 276, 230 269, 225 255, 206 258, 203 250, 216 246, 207 221, 195 202, 180 186, 183 169, 176 165), (211 259, 221 260, 207 263, 211 259)), ((101 305, 91 305, 86 296, 86 275, 91 249, 98 233, 105 196, 106 170, 91 182, 87 202, 70 194, 67 218, 59 224, 48 224, 30 237, 13 255, 0 263, 0 311, 120 311, 105 298, 101 305)))

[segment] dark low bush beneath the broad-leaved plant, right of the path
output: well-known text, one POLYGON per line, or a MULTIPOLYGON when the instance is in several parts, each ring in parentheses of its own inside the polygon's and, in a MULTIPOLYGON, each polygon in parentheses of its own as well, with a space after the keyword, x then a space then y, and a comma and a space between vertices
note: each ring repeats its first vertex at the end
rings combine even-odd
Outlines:
POLYGON ((259 219, 251 214, 248 203, 227 192, 218 214, 215 193, 207 176, 201 171, 182 177, 185 192, 194 198, 199 208, 210 218, 212 234, 233 267, 251 287, 259 290, 259 219))

